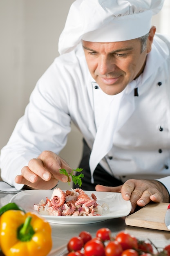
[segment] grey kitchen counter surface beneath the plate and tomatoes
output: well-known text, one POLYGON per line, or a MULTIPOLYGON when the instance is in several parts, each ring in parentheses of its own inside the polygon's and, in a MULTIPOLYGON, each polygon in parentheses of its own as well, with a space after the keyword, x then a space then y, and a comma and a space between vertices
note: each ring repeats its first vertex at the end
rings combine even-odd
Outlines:
MULTIPOLYGON (((7 204, 14 194, 0 193, 0 207, 7 204)), ((94 224, 50 224, 52 228, 53 248, 49 256, 64 255, 68 240, 73 236, 85 230, 94 237, 96 231, 102 227, 111 229, 112 235, 116 235, 120 231, 127 231, 139 240, 147 240, 149 238, 158 248, 163 248, 170 244, 170 231, 161 231, 157 229, 147 229, 141 227, 132 227, 125 225, 125 218, 115 218, 97 222, 94 224)))

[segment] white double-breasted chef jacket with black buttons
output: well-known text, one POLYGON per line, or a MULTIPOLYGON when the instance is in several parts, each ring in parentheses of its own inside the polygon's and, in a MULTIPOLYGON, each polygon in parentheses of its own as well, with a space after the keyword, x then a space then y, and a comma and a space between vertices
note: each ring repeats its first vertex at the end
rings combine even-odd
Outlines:
MULTIPOLYGON (((100 164, 123 182, 159 179, 170 192, 170 38, 155 35, 153 47, 154 58, 147 62, 154 72, 138 88, 134 113, 115 132, 113 147, 100 164)), ((71 121, 92 149, 112 97, 116 95, 105 94, 90 75, 81 45, 56 58, 36 84, 25 115, 1 150, 2 179, 21 189, 23 185, 14 182, 21 168, 43 150, 58 154, 67 143, 71 121)))

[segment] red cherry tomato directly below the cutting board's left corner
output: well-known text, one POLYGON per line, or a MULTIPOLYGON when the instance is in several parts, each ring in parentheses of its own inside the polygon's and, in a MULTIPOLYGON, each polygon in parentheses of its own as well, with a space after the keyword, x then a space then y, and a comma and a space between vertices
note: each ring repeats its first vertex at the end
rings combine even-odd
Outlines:
POLYGON ((137 238, 128 234, 127 232, 119 232, 116 235, 115 240, 121 244, 123 250, 138 248, 137 238))

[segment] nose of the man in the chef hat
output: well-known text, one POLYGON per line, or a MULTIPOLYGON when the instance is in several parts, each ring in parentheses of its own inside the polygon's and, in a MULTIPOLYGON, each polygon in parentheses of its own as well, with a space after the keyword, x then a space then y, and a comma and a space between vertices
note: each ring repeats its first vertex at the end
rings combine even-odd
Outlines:
POLYGON ((101 75, 109 74, 115 70, 115 63, 113 59, 109 58, 108 56, 100 56, 98 60, 98 72, 101 75))

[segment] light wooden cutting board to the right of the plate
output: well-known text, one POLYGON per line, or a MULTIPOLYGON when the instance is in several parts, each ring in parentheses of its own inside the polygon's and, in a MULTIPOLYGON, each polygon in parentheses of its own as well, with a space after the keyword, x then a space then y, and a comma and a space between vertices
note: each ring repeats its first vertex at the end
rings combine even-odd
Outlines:
POLYGON ((125 218, 125 224, 170 231, 164 222, 168 203, 150 203, 125 218))

